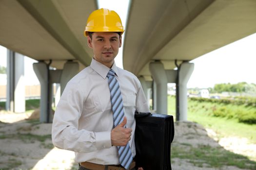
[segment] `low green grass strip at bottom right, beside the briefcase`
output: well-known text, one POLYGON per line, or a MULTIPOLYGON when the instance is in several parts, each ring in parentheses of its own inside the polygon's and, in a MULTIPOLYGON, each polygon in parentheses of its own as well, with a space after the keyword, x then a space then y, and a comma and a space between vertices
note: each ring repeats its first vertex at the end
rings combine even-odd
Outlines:
POLYGON ((226 151, 222 147, 199 145, 198 148, 193 148, 190 144, 184 145, 185 147, 173 144, 171 158, 186 159, 197 167, 236 166, 240 169, 256 170, 256 162, 249 160, 246 156, 226 151))

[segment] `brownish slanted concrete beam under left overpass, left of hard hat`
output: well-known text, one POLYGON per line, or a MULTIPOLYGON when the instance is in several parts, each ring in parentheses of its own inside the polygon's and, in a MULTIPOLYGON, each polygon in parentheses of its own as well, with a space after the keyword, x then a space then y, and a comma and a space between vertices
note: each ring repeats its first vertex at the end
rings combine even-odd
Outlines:
MULTIPOLYGON (((85 51, 82 44, 67 25, 67 22, 60 15, 59 10, 54 4, 56 2, 53 2, 53 0, 18 1, 70 54, 84 66, 90 66, 91 55, 85 51)), ((83 35, 81 34, 81 36, 83 35)))

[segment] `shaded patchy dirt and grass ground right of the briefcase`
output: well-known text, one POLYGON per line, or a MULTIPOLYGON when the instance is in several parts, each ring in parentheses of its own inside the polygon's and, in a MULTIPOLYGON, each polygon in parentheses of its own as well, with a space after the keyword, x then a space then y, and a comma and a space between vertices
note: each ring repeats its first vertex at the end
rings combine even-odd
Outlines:
POLYGON ((229 152, 194 122, 175 122, 173 170, 256 170, 256 162, 229 152))

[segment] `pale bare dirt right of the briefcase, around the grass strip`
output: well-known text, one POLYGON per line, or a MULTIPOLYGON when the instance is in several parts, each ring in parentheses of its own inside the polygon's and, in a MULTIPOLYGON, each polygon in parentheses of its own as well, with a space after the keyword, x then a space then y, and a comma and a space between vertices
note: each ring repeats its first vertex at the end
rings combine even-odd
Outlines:
MULTIPOLYGON (((222 137, 218 138, 217 134, 211 129, 204 129, 203 126, 194 122, 175 122, 175 138, 172 143, 174 147, 184 147, 189 144, 194 148, 199 146, 211 146, 212 148, 224 148, 232 153, 251 157, 256 161, 256 144, 248 143, 246 138, 239 137, 222 137)), ((172 151, 171 151, 172 152, 172 151)), ((204 164, 202 167, 196 167, 185 159, 172 159, 172 170, 246 170, 233 166, 223 166, 222 168, 209 168, 204 164)))

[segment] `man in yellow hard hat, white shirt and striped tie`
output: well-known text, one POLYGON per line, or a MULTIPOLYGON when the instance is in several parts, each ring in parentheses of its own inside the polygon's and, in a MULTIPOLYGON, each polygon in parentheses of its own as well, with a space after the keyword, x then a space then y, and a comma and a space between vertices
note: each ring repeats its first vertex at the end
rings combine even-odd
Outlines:
POLYGON ((53 144, 74 151, 79 170, 135 170, 134 113, 149 107, 138 78, 115 65, 123 32, 115 11, 88 17, 92 63, 68 82, 55 111, 53 144))

